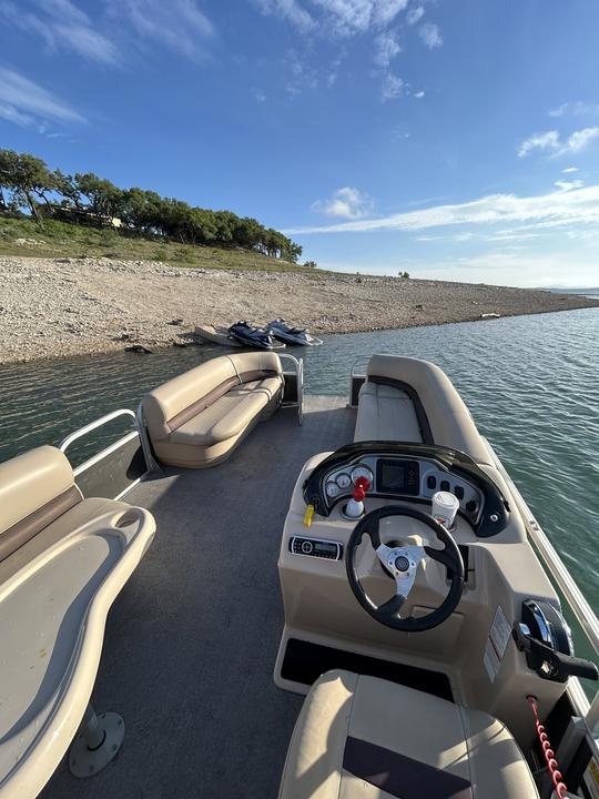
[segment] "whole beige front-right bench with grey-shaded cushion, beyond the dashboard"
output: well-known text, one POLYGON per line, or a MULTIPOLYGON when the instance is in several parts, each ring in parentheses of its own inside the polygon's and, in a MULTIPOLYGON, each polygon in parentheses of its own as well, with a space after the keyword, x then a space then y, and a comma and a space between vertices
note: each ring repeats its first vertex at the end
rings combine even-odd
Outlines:
POLYGON ((359 390, 355 442, 403 441, 453 447, 477 463, 490 455, 470 412, 438 366, 373 355, 359 390))

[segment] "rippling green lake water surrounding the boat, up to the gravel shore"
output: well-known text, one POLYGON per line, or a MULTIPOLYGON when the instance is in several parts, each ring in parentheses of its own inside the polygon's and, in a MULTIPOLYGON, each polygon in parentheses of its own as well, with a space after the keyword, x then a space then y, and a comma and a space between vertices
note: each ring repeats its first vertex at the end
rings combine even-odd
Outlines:
MULTIPOLYGON (((0 366, 0 461, 68 433, 192 366, 217 346, 0 366)), ((306 392, 347 394, 374 352, 437 363, 466 401, 599 609, 599 309, 405 331, 326 336, 291 348, 306 392)))

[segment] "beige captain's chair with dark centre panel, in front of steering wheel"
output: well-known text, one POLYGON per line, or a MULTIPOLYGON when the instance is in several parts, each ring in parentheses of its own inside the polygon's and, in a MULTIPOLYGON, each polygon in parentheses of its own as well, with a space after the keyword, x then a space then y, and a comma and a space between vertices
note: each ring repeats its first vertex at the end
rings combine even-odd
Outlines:
POLYGON ((280 799, 538 799, 518 745, 487 714, 328 671, 309 691, 280 799))

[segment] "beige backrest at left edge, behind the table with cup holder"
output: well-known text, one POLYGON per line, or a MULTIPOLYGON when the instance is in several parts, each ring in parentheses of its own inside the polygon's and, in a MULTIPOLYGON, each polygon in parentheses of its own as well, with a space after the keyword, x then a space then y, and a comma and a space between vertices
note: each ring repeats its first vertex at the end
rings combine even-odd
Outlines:
POLYGON ((0 560, 82 499, 71 464, 55 447, 0 464, 0 560))

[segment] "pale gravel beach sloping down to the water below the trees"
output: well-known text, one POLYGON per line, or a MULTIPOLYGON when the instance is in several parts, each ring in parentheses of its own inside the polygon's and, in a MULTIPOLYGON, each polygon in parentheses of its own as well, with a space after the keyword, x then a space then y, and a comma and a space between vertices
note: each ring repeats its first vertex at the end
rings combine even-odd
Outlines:
POLYGON ((283 316, 314 333, 348 333, 593 305, 570 294, 469 283, 3 257, 0 363, 196 343, 196 324, 238 318, 283 316))

